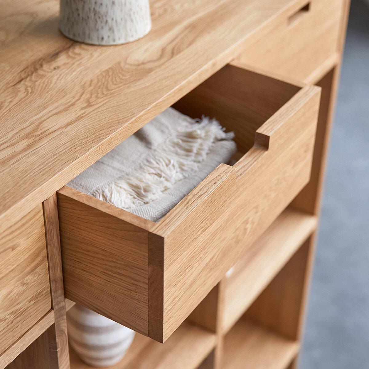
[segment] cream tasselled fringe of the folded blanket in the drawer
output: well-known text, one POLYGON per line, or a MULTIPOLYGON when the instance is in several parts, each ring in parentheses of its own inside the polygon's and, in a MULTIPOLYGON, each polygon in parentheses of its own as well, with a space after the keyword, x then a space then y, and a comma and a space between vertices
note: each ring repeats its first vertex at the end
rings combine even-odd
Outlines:
POLYGON ((134 176, 104 183, 90 194, 128 211, 151 203, 196 171, 215 142, 234 138, 224 130, 217 120, 204 116, 183 121, 139 164, 134 176))

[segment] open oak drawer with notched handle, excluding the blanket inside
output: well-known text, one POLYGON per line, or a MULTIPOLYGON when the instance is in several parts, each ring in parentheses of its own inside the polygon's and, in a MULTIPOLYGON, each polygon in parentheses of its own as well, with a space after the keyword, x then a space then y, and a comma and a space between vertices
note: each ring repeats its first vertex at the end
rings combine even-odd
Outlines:
POLYGON ((65 296, 165 341, 310 177, 320 88, 225 66, 174 107, 235 132, 221 164, 158 223, 58 191, 65 296))

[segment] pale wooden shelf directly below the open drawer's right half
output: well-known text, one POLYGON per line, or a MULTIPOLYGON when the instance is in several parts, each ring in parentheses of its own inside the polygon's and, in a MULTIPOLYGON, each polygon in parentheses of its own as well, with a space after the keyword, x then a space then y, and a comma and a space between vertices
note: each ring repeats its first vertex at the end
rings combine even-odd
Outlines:
POLYGON ((317 217, 287 208, 224 279, 223 331, 230 330, 317 227, 317 217))

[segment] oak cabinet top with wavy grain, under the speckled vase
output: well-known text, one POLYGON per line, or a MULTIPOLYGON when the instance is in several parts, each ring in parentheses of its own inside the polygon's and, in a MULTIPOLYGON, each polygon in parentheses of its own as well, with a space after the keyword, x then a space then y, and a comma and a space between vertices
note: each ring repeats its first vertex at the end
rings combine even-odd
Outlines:
POLYGON ((229 63, 300 0, 154 0, 119 46, 58 31, 57 0, 1 0, 0 221, 19 218, 229 63))

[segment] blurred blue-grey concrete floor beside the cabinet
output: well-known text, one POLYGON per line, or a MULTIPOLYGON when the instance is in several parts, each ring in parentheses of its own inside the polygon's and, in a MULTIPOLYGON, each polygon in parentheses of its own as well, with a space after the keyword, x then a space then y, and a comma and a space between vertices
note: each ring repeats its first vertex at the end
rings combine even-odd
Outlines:
POLYGON ((300 369, 369 368, 369 4, 353 0, 300 369))

